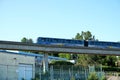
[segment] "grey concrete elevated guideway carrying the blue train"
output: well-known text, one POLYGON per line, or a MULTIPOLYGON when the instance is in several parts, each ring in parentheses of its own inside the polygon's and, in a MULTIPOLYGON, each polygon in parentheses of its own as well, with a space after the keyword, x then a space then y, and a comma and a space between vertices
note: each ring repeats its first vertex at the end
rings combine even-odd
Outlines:
POLYGON ((0 49, 6 50, 29 50, 46 53, 77 53, 77 54, 100 54, 100 55, 120 55, 120 49, 103 49, 90 47, 64 47, 60 45, 40 45, 12 41, 0 41, 0 49))

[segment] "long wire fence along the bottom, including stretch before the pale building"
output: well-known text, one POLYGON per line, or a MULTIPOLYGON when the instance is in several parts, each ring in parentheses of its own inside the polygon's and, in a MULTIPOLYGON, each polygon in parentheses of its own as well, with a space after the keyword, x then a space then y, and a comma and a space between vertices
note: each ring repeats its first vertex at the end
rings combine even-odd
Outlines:
MULTIPOLYGON (((95 70, 84 66, 49 66, 49 70, 43 72, 41 66, 19 67, 0 65, 0 80, 87 80, 90 71, 95 70)), ((103 75, 100 69, 97 72, 100 77, 103 75)))

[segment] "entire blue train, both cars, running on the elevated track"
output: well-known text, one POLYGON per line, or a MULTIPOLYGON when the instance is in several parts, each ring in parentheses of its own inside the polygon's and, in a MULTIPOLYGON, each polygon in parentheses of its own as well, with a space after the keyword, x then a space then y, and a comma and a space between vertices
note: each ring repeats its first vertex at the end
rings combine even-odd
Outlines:
POLYGON ((37 44, 43 45, 59 45, 65 47, 95 47, 95 48, 120 48, 120 42, 107 42, 96 40, 75 40, 75 39, 61 39, 38 37, 37 44))

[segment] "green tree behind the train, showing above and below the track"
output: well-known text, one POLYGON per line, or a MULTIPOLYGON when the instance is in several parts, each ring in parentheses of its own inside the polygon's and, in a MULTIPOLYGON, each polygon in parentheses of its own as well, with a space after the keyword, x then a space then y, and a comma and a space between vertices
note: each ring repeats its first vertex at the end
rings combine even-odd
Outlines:
MULTIPOLYGON (((95 37, 92 36, 92 33, 90 31, 82 31, 81 33, 77 33, 75 38, 76 40, 95 40, 95 37)), ((91 57, 87 54, 73 54, 73 56, 76 56, 77 64, 82 65, 88 65, 88 64, 94 64, 94 61, 91 59, 91 57)))

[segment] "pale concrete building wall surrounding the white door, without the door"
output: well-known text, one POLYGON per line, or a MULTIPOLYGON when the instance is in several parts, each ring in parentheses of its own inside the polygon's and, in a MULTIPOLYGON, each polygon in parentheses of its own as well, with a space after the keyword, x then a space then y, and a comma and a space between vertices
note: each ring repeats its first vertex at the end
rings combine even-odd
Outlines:
POLYGON ((34 71, 35 57, 0 52, 0 80, 18 80, 19 64, 33 65, 34 71))

